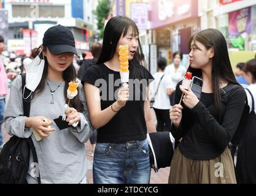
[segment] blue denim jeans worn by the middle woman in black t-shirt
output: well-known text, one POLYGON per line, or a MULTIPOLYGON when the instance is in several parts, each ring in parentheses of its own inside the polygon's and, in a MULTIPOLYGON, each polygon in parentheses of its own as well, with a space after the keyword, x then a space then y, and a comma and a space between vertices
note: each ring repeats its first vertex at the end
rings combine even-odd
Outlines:
POLYGON ((95 184, 149 184, 147 140, 96 143, 93 158, 95 184))

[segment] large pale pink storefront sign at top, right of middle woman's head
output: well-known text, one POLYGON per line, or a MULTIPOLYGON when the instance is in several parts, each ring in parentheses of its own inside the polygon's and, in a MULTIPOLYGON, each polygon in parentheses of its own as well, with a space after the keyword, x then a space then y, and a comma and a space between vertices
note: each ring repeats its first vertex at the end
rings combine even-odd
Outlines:
POLYGON ((152 0, 151 29, 198 17, 198 0, 152 0))

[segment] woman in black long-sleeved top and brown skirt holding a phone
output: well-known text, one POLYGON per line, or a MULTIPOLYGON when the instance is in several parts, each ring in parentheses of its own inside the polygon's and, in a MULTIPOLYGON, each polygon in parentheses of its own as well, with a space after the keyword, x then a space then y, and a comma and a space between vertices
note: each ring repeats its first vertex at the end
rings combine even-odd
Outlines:
POLYGON ((182 140, 171 162, 169 183, 236 183, 227 146, 238 128, 246 92, 236 82, 220 31, 197 32, 189 47, 188 71, 203 79, 203 89, 198 100, 190 88, 177 84, 176 105, 170 110, 171 133, 182 140), (235 87, 222 96, 228 85, 235 87))

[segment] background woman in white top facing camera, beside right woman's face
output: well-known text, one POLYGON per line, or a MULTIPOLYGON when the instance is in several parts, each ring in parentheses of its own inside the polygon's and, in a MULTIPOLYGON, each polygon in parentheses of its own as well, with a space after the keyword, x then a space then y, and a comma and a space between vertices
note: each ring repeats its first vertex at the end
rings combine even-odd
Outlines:
POLYGON ((186 74, 186 68, 180 65, 182 58, 183 58, 182 52, 176 51, 175 53, 173 53, 173 63, 165 67, 165 74, 168 74, 173 80, 172 88, 174 92, 169 97, 171 106, 174 105, 176 85, 180 80, 182 80, 182 78, 184 78, 186 74))

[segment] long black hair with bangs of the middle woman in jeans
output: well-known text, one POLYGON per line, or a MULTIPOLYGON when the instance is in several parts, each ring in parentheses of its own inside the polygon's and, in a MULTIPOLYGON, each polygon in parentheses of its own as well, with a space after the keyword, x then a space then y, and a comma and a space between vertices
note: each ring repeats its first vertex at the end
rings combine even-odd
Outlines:
MULTIPOLYGON (((138 27, 134 21, 128 17, 117 16, 111 18, 107 22, 104 29, 103 48, 101 50, 101 55, 99 55, 97 64, 104 63, 113 58, 120 37, 122 35, 123 37, 126 36, 130 28, 133 31, 133 35, 137 35, 139 37, 138 27)), ((129 70, 133 72, 133 78, 141 80, 142 78, 148 78, 148 76, 147 73, 143 72, 144 69, 141 69, 141 66, 145 66, 145 59, 139 39, 138 43, 138 49, 133 56, 133 59, 129 61, 129 70)))

